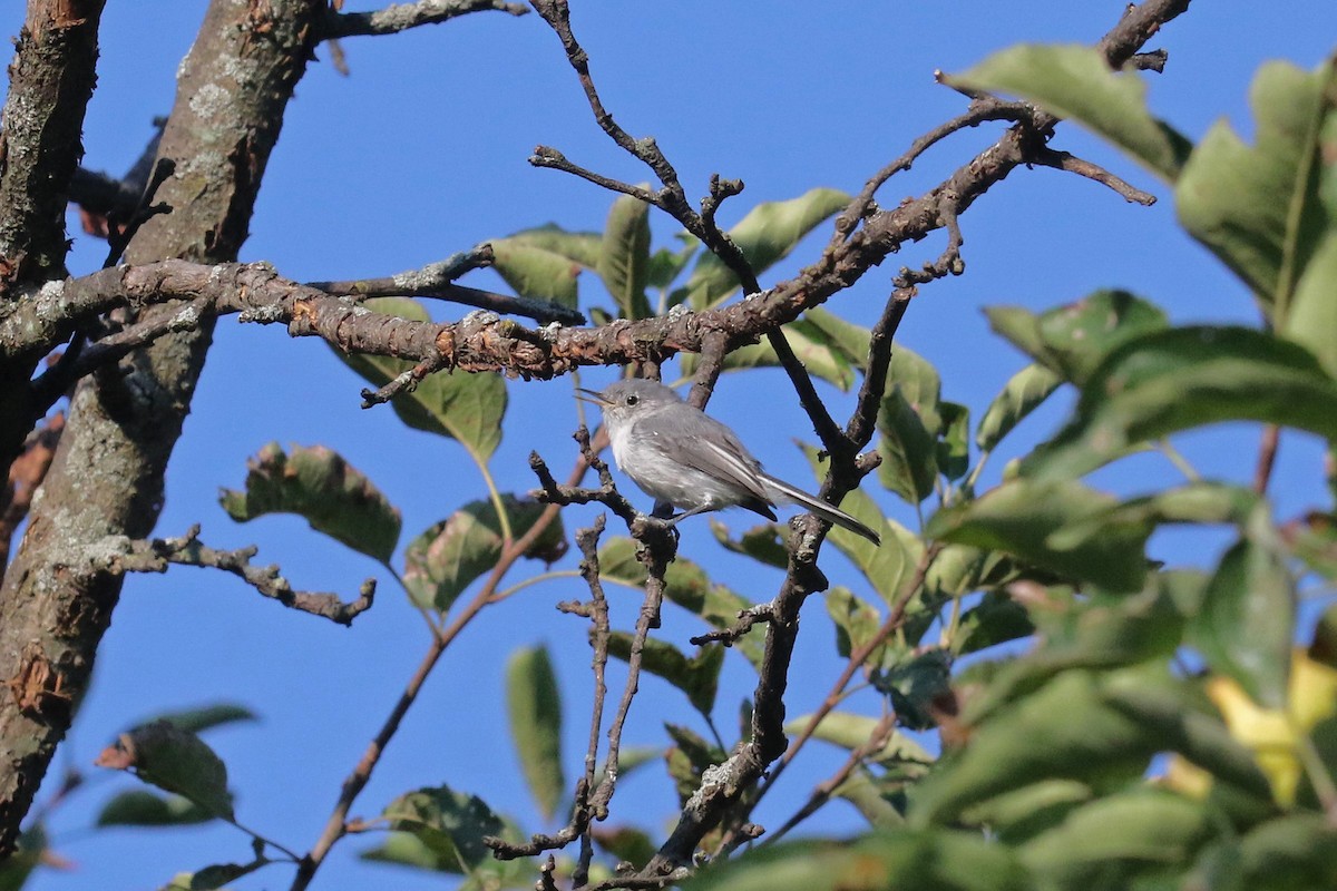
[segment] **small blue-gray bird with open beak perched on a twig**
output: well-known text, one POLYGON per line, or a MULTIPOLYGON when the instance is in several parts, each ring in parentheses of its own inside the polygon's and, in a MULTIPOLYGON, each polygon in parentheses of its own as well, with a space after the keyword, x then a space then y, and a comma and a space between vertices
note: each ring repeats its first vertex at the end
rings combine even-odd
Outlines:
POLYGON ((656 501, 683 510, 673 522, 706 510, 747 508, 769 520, 777 504, 797 504, 826 522, 881 544, 876 532, 761 469, 734 431, 656 381, 619 381, 576 398, 603 410, 618 468, 656 501))

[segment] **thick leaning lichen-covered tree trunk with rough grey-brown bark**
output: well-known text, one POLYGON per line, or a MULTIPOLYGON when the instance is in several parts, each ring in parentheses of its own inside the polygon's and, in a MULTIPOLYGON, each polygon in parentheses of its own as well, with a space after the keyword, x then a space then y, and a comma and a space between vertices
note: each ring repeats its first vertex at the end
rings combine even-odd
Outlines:
MULTIPOLYGON (((159 158, 175 172, 126 254, 234 259, 293 88, 310 57, 324 0, 213 0, 178 73, 159 158)), ((170 311, 159 307, 155 311, 170 311)), ((94 378, 70 419, 29 526, 0 589, 0 858, 64 736, 120 593, 86 570, 87 542, 146 536, 203 367, 211 323, 172 334, 94 378)))

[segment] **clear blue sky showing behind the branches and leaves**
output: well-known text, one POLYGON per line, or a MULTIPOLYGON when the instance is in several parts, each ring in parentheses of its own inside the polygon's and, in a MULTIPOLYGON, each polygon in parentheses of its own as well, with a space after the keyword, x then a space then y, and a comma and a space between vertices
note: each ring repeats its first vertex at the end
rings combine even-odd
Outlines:
MULTIPOLYGON (((99 85, 84 127, 90 167, 122 172, 138 156, 152 116, 171 106, 174 75, 203 5, 108 4, 99 85)), ((370 8, 354 0, 348 7, 370 8)), ((848 0, 761 8, 718 0, 654 5, 572 0, 572 8, 607 107, 632 135, 658 139, 689 196, 705 194, 713 172, 746 182, 746 191, 722 212, 731 223, 758 202, 793 198, 814 186, 857 191, 912 139, 964 107, 963 98, 935 84, 935 69, 960 71, 1023 40, 1090 43, 1118 19, 1123 3, 848 0)), ((7 4, 0 25, 15 33, 19 20, 19 4, 7 4)), ((1166 73, 1148 79, 1152 110, 1194 139, 1221 116, 1247 135, 1246 95, 1258 64, 1280 57, 1309 68, 1334 40, 1337 7, 1330 3, 1197 4, 1151 43, 1170 52, 1166 73)), ((537 16, 475 15, 398 36, 345 40, 344 49, 352 76, 337 75, 322 49, 321 61, 297 88, 242 259, 269 260, 283 275, 303 281, 358 278, 414 269, 547 222, 602 228, 612 196, 529 167, 525 159, 537 143, 612 176, 648 178, 594 124, 560 44, 537 16)), ((996 134, 980 127, 935 148, 884 188, 881 203, 923 192, 996 134)), ((924 289, 901 327, 901 341, 937 365, 944 397, 965 402, 976 418, 1007 375, 1024 365, 988 333, 981 306, 1019 303, 1039 310, 1116 286, 1159 302, 1177 322, 1255 318, 1243 289, 1178 230, 1161 183, 1075 127, 1062 126, 1054 146, 1106 164, 1165 200, 1143 208, 1072 175, 1020 170, 965 214, 965 275, 924 289)), ((668 243, 677 231, 667 218, 652 216, 651 226, 656 244, 668 243)), ((762 283, 781 281, 816 258, 825 232, 818 230, 762 283)), ((104 246, 82 235, 75 222, 71 235, 71 269, 76 274, 96 269, 104 246)), ((870 323, 894 266, 917 266, 940 247, 940 238, 906 246, 829 307, 870 323)), ((465 283, 501 287, 487 273, 465 283)), ((582 289, 583 306, 607 305, 595 279, 582 289)), ((432 311, 439 319, 461 313, 449 306, 432 311)), ((599 386, 614 377, 614 369, 594 369, 583 382, 599 386)), ((291 341, 279 327, 225 319, 172 460, 158 534, 180 534, 202 522, 203 538, 214 546, 259 544, 259 560, 281 564, 294 585, 352 596, 361 578, 377 574, 366 558, 312 533, 297 518, 239 526, 218 508, 218 488, 239 486, 246 458, 265 442, 324 443, 341 452, 404 509, 404 542, 483 497, 459 446, 405 430, 384 407, 361 410, 361 387, 322 343, 291 341)), ((559 477, 566 473, 575 456, 570 393, 567 379, 512 383, 504 439, 492 460, 504 489, 533 486, 527 466, 531 449, 539 449, 559 477)), ((822 393, 837 417, 848 413, 848 395, 825 385, 822 393)), ((1051 431, 1062 407, 1032 418, 1017 431, 1016 446, 1051 431)), ((739 431, 767 469, 812 484, 792 445, 813 438, 810 425, 781 374, 726 377, 711 411, 739 431), (765 398, 758 398, 759 389, 765 398)), ((1255 442, 1251 430, 1227 430, 1186 437, 1183 448, 1209 473, 1246 478, 1255 442)), ((1300 437, 1284 441, 1275 486, 1281 516, 1320 497, 1313 490, 1318 458, 1316 443, 1300 437)), ((995 461, 985 482, 996 481, 1001 466, 995 461)), ((1098 480, 1134 492, 1166 478, 1161 464, 1135 460, 1098 480)), ((865 490, 913 528, 912 512, 893 504, 876 481, 869 480, 865 490)), ((634 500, 648 506, 639 493, 634 500)), ((594 513, 570 510, 568 529, 594 513)), ((723 520, 737 530, 751 525, 745 514, 723 520)), ((1219 541, 1158 540, 1154 546, 1177 560, 1187 553, 1205 561, 1219 541)), ((686 524, 682 554, 753 600, 769 598, 779 581, 778 573, 723 553, 705 520, 686 524)), ((833 581, 858 589, 834 550, 825 553, 824 568, 833 581)), ((537 568, 520 566, 515 578, 529 572, 537 568)), ((560 616, 554 604, 578 596, 580 588, 568 582, 537 585, 480 617, 437 668, 354 814, 372 816, 406 789, 448 783, 483 795, 529 830, 551 828, 541 824, 519 780, 504 719, 503 665, 517 647, 543 641, 552 648, 566 696, 567 772, 574 775, 586 732, 588 648, 584 624, 560 616)), ((628 593, 616 592, 615 622, 628 628, 636 605, 628 593)), ((793 673, 796 715, 810 711, 840 671, 830 656, 830 622, 816 600, 805 621, 793 673)), ((670 613, 660 635, 686 645, 686 637, 698 632, 690 617, 670 613)), ((229 827, 84 828, 108 795, 132 783, 91 767, 116 732, 164 711, 219 700, 242 703, 261 716, 257 724, 207 736, 229 764, 241 822, 290 848, 308 850, 341 780, 425 647, 421 620, 388 578, 377 606, 352 629, 283 610, 221 573, 174 569, 130 580, 99 655, 92 692, 53 767, 71 764, 94 775, 51 827, 57 850, 76 867, 41 871, 31 887, 150 888, 176 871, 245 859, 247 840, 229 827)), ((717 708, 726 736, 737 703, 751 691, 750 669, 734 655, 729 660, 717 708)), ((667 685, 651 679, 643 691, 628 741, 660 745, 662 721, 693 723, 667 685)), ((804 768, 789 773, 783 791, 767 797, 758 822, 782 822, 804 791, 840 760, 840 753, 814 745, 804 768)), ((623 815, 635 815, 634 822, 658 834, 673 815, 671 804, 662 769, 647 767, 619 787, 614 819, 624 808, 623 815)), ((845 832, 860 822, 834 804, 814 826, 845 832)), ((358 838, 341 843, 317 887, 334 891, 382 882, 410 891, 440 887, 427 874, 358 864, 356 852, 372 843, 358 838)), ((270 867, 235 887, 273 888, 289 880, 282 867, 270 867)))

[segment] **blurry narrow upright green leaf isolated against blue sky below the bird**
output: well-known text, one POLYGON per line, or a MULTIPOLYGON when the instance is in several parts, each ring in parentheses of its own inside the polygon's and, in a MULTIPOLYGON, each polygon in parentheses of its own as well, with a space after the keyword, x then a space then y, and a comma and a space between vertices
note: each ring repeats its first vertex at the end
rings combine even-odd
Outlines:
POLYGON ((562 772, 562 691, 547 647, 524 647, 511 655, 505 699, 524 780, 543 818, 551 820, 567 781, 562 772))

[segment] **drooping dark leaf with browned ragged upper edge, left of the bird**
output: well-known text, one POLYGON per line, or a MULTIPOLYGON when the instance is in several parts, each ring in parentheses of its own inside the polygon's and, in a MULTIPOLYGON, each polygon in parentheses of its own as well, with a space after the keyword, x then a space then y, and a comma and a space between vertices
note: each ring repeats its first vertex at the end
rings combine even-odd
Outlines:
POLYGON ((269 513, 295 513, 316 532, 380 562, 400 540, 400 510, 361 472, 325 446, 270 442, 246 462, 246 489, 223 489, 219 504, 237 522, 269 513))

